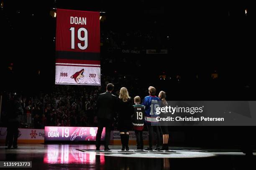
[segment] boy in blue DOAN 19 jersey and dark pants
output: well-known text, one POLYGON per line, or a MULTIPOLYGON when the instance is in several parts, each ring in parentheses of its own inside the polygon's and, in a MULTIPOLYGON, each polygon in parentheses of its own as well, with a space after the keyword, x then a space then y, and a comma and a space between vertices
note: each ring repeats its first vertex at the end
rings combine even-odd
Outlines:
POLYGON ((145 106, 145 120, 146 120, 146 125, 148 128, 148 148, 146 150, 153 150, 152 148, 152 137, 154 132, 156 133, 156 149, 155 150, 160 150, 160 133, 159 133, 159 126, 158 126, 158 121, 156 120, 156 114, 154 114, 156 111, 154 110, 154 106, 158 105, 160 99, 155 96, 156 94, 156 88, 155 87, 148 87, 148 93, 149 96, 146 96, 143 99, 143 102, 141 105, 145 106))

